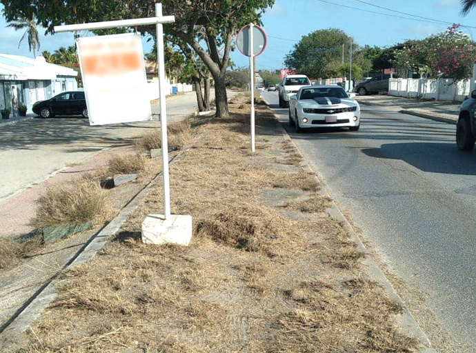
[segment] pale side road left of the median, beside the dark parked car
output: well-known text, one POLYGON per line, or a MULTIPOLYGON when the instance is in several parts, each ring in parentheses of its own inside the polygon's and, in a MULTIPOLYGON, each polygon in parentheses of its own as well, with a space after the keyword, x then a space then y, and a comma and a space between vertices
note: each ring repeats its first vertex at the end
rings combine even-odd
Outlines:
MULTIPOLYGON (((168 121, 197 109, 195 92, 167 98, 168 121)), ((159 105, 152 105, 152 114, 159 105)), ((0 202, 48 179, 68 165, 82 163, 107 148, 130 144, 133 137, 160 127, 151 121, 90 126, 81 117, 33 118, 0 126, 0 202)))

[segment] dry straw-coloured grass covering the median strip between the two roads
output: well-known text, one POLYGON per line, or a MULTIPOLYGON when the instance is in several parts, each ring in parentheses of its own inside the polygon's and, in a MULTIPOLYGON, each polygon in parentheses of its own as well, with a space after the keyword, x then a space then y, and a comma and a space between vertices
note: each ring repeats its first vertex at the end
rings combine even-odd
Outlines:
POLYGON ((235 103, 170 166, 172 213, 194 220, 190 246, 141 243, 143 217, 161 212, 158 181, 117 239, 65 274, 26 352, 413 351, 394 325, 401 308, 364 277, 346 227, 319 213, 315 176, 272 169, 286 164, 272 134, 250 153, 235 103), (310 202, 295 206, 313 214, 297 222, 261 205, 273 186, 304 190, 310 202))

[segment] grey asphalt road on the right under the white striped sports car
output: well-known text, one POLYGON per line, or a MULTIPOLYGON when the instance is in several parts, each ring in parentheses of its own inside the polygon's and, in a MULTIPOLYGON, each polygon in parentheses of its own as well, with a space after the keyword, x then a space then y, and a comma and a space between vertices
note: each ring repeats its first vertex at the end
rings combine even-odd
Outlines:
POLYGON ((457 150, 455 125, 364 105, 359 132, 297 134, 277 94, 262 95, 361 236, 424 295, 455 352, 476 352, 476 151, 457 150))

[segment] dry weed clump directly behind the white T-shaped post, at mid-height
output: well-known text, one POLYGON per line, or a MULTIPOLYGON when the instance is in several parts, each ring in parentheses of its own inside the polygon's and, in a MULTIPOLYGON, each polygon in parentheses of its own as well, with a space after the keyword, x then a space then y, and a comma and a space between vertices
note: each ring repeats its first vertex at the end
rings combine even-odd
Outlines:
MULTIPOLYGON (((168 148, 173 150, 183 149, 192 139, 190 123, 186 120, 177 121, 167 125, 168 148)), ((162 148, 161 131, 152 130, 143 134, 136 142, 137 148, 141 150, 153 150, 162 148)))

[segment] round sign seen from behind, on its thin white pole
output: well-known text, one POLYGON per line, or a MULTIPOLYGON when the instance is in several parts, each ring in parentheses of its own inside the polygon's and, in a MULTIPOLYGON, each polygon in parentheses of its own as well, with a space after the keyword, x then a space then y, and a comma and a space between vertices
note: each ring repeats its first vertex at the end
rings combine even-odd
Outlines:
POLYGON ((266 48, 266 34, 259 26, 250 23, 237 34, 237 47, 241 54, 250 57, 250 91, 251 91, 251 151, 255 152, 255 65, 254 59, 266 48))

